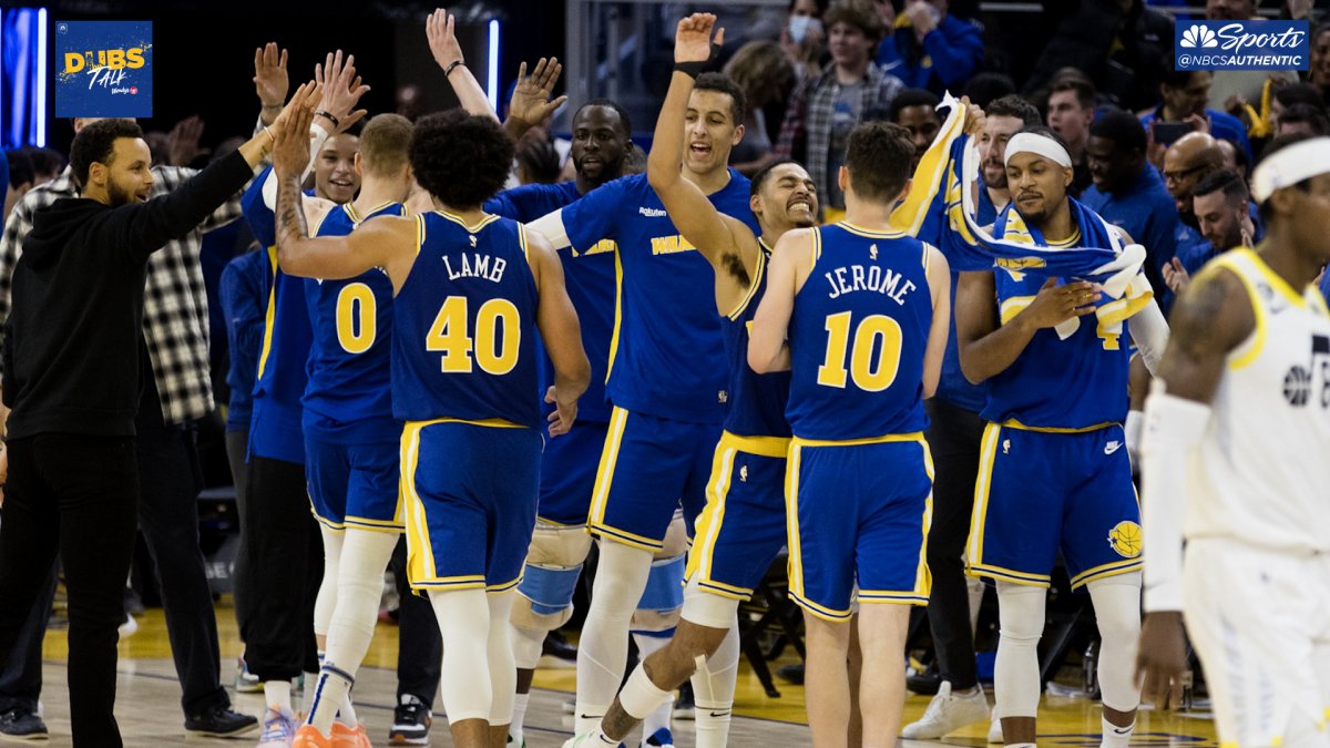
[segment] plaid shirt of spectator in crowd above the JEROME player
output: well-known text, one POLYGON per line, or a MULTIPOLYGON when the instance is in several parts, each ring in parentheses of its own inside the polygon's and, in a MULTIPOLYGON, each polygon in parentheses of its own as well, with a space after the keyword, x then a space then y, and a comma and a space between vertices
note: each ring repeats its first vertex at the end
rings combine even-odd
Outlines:
MULTIPOLYGON (((863 88, 859 89, 859 121, 887 118, 891 100, 903 88, 900 79, 883 73, 870 61, 863 88)), ((841 84, 835 80, 834 63, 822 73, 805 79, 790 96, 785 121, 781 122, 781 137, 775 142, 777 156, 803 164, 819 196, 830 194, 831 180, 835 178, 835 174, 827 173, 827 156, 831 152, 831 117, 838 96, 841 84)))

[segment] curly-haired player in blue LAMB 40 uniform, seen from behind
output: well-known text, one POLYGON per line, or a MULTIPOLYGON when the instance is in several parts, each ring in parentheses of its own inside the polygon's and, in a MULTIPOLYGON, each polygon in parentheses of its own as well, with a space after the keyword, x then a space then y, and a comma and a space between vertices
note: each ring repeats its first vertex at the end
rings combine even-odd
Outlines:
POLYGON ((293 274, 382 268, 392 282, 411 584, 430 594, 443 634, 454 743, 503 745, 516 685, 508 619, 539 488, 537 327, 555 366, 552 437, 572 427, 591 371, 563 269, 539 236, 481 210, 513 154, 495 120, 454 110, 416 124, 411 168, 438 210, 313 240, 297 202, 298 124, 278 136, 278 258, 293 274))

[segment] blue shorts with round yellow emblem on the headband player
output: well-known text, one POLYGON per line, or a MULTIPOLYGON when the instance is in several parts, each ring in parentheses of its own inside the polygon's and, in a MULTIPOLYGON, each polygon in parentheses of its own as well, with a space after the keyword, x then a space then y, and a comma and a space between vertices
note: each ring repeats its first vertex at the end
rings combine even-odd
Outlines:
POLYGON ((1048 587, 1060 551, 1076 590, 1141 568, 1140 523, 1121 426, 984 429, 966 550, 971 575, 1048 587))

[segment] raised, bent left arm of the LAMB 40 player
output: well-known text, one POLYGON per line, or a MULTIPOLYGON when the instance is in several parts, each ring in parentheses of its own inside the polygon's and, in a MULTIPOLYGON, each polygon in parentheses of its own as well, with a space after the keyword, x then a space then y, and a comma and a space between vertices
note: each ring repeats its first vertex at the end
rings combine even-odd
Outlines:
POLYGON ((274 125, 277 264, 285 273, 306 278, 354 278, 370 268, 384 268, 396 290, 414 261, 415 220, 382 217, 344 237, 310 237, 301 201, 301 172, 309 158, 305 133, 313 117, 313 110, 299 109, 274 125))

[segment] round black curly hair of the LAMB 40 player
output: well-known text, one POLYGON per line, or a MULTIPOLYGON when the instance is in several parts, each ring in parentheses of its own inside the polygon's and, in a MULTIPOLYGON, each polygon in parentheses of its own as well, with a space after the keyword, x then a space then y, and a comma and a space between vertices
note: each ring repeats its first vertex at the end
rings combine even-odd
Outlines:
POLYGON ((416 181, 448 208, 479 208, 508 181, 513 145, 491 117, 451 109, 420 117, 411 136, 416 181))

